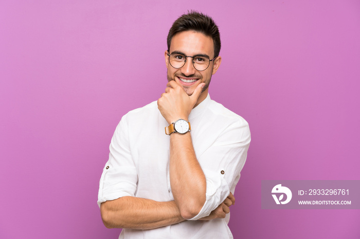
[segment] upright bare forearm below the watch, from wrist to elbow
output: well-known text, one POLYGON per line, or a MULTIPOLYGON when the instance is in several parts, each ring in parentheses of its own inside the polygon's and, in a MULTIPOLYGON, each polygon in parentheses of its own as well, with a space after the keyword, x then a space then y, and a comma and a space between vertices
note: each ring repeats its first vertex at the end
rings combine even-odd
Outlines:
POLYGON ((206 200, 206 178, 197 161, 190 133, 170 135, 170 184, 181 215, 197 215, 206 200))

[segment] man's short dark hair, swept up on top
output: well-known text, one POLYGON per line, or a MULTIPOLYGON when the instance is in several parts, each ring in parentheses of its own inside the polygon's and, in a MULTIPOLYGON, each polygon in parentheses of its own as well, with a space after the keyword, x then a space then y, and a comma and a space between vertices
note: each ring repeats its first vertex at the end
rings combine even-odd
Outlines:
POLYGON ((172 37, 176 33, 188 30, 201 32, 206 36, 210 36, 214 42, 214 57, 219 56, 221 42, 218 26, 210 16, 194 10, 188 11, 188 14, 183 14, 177 18, 171 26, 168 34, 168 50, 170 50, 172 37))

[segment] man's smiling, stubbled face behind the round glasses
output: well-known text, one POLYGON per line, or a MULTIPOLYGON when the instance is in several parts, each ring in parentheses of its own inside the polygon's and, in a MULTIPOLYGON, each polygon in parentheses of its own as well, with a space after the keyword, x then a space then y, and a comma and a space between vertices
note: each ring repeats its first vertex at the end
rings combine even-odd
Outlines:
MULTIPOLYGON (((172 52, 182 53, 188 56, 207 55, 210 59, 214 57, 214 44, 210 36, 195 31, 183 31, 175 34, 171 39, 169 54, 172 52)), ((221 57, 217 57, 210 62, 209 67, 204 71, 198 71, 194 68, 193 59, 187 57, 186 63, 182 68, 173 68, 169 63, 169 56, 165 52, 166 67, 168 68, 168 81, 175 81, 181 85, 188 95, 192 95, 196 86, 205 83, 203 92, 199 99, 205 99, 208 86, 210 84, 211 75, 218 70, 221 57), (187 82, 186 82, 187 81, 187 82)))

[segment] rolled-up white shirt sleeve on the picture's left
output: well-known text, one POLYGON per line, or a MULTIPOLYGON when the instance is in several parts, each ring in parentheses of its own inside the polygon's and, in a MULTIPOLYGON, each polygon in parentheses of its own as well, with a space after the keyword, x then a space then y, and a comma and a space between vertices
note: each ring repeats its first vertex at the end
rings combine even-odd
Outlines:
POLYGON ((98 205, 122 196, 134 196, 137 172, 129 145, 129 131, 126 115, 116 127, 110 144, 109 161, 105 164, 98 193, 98 205))

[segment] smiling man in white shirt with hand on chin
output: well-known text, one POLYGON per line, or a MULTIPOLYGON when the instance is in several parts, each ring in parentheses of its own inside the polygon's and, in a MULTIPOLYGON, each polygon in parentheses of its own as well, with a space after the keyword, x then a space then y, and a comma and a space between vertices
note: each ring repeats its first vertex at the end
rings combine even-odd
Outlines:
POLYGON ((121 118, 98 195, 105 226, 123 228, 119 238, 232 238, 227 213, 250 131, 208 94, 220 47, 209 16, 179 17, 168 35, 165 92, 121 118))

